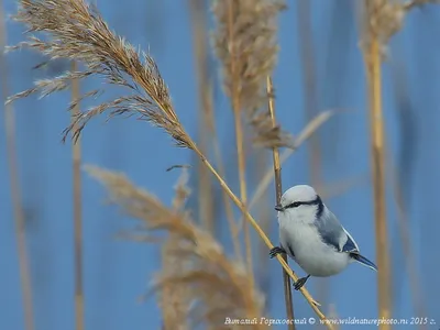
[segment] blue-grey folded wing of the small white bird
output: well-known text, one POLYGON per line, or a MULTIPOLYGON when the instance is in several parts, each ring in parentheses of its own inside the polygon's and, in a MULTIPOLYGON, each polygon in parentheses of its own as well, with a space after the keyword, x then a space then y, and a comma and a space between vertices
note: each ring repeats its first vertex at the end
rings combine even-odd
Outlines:
POLYGON ((332 212, 324 212, 316 220, 315 226, 322 242, 333 246, 338 252, 345 252, 344 248, 349 241, 349 235, 332 212))

